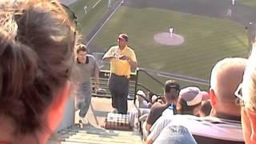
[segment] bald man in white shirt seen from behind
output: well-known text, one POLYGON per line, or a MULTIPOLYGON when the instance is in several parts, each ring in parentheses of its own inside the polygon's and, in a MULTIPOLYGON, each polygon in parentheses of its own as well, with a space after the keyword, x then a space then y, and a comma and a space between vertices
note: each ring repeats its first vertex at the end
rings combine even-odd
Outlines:
MULTIPOLYGON (((225 58, 214 66, 210 76, 210 116, 177 114, 158 118, 150 129, 146 144, 171 143, 173 136, 166 130, 174 125, 185 126, 198 144, 244 144, 240 108, 235 103, 234 92, 242 82, 246 62, 245 58, 225 58)), ((190 104, 199 102, 198 99, 193 99, 190 104)))

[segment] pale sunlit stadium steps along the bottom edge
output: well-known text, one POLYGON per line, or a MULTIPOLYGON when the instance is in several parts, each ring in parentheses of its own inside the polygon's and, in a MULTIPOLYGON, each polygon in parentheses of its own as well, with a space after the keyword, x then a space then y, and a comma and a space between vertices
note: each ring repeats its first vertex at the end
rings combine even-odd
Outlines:
POLYGON ((139 144, 142 143, 141 135, 137 131, 105 130, 92 125, 75 125, 62 130, 57 136, 50 138, 47 144, 139 144))

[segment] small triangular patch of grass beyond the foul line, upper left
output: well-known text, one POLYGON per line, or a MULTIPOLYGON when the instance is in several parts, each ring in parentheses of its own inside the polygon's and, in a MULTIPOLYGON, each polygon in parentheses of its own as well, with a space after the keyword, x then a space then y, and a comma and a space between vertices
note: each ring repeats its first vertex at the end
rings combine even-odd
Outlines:
POLYGON ((90 30, 96 26, 108 11, 107 0, 102 0, 92 9, 96 2, 98 0, 78 0, 70 5, 71 10, 78 17, 78 30, 81 32, 82 38, 85 38, 90 33, 90 30), (88 7, 87 14, 85 14, 84 6, 88 7))

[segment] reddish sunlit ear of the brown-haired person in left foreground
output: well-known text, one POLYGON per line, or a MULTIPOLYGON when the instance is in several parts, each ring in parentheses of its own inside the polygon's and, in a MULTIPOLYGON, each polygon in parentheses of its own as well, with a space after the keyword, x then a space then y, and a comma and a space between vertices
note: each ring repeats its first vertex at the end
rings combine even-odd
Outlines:
POLYGON ((54 131, 59 122, 62 120, 64 114, 66 101, 70 96, 70 82, 66 82, 60 90, 54 95, 54 102, 52 102, 48 114, 48 126, 50 130, 54 131))

